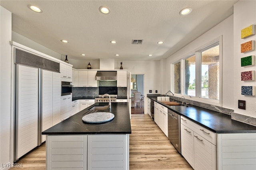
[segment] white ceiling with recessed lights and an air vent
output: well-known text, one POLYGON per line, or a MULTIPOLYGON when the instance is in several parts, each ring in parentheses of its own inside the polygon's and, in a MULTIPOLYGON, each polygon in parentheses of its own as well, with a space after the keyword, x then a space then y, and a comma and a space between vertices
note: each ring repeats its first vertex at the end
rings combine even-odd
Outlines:
POLYGON ((232 15, 237 1, 0 0, 0 5, 12 12, 13 31, 71 59, 159 60, 232 15), (28 4, 43 12, 33 12, 28 4), (110 14, 100 13, 100 6, 110 8, 110 14), (180 16, 186 7, 192 12, 180 16), (133 45, 132 39, 143 43, 133 45))

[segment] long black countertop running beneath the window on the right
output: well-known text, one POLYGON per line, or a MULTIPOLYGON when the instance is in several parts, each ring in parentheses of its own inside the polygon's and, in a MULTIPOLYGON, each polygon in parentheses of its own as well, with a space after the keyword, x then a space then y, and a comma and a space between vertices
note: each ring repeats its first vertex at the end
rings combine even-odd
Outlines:
POLYGON ((224 113, 190 104, 188 106, 168 106, 157 101, 155 96, 147 97, 215 133, 256 133, 256 126, 233 120, 230 115, 224 113))

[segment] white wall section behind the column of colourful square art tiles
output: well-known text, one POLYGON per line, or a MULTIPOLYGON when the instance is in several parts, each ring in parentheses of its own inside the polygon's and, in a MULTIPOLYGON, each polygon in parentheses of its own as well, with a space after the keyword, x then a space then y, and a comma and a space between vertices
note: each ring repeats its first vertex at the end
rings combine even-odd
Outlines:
POLYGON ((256 1, 239 1, 234 5, 234 112, 256 117, 256 96, 241 95, 241 86, 256 86, 255 81, 241 81, 241 72, 256 70, 256 65, 241 67, 240 59, 256 55, 256 50, 241 53, 240 45, 247 41, 256 41, 256 35, 241 39, 241 29, 256 25, 256 1), (246 101, 246 110, 238 109, 238 100, 246 101))

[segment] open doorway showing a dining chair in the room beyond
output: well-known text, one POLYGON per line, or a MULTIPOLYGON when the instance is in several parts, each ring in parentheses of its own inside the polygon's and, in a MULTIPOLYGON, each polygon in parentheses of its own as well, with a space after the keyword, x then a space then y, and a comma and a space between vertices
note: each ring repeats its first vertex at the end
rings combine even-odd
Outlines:
POLYGON ((131 113, 144 114, 144 74, 131 74, 131 113))

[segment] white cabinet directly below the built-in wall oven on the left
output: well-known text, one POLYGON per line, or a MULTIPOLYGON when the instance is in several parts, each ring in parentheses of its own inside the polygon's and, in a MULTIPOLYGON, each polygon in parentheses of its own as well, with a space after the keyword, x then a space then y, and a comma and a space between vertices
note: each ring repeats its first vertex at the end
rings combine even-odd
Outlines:
POLYGON ((70 117, 72 113, 72 95, 60 98, 60 120, 63 121, 70 117))

